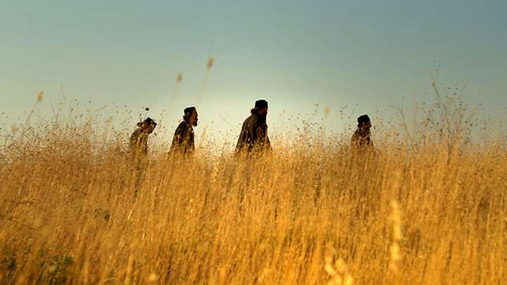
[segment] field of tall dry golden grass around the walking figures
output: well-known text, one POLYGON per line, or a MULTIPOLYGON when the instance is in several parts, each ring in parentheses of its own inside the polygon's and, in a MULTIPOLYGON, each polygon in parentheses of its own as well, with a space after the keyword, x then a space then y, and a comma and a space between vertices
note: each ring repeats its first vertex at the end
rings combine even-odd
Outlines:
POLYGON ((156 147, 136 197, 127 132, 56 120, 13 131, 0 153, 1 284, 507 280, 500 141, 377 139, 375 156, 355 156, 340 139, 273 139, 254 160, 206 142, 191 160, 156 147))

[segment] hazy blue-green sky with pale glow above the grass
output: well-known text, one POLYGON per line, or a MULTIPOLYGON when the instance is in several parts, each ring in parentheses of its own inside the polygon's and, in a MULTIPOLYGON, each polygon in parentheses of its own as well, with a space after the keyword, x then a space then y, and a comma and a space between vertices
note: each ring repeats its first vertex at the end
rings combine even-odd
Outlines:
POLYGON ((430 101, 437 76, 484 117, 507 118, 506 11, 468 0, 0 0, 0 113, 23 118, 44 91, 39 116, 75 99, 170 129, 196 105, 208 132, 239 132, 266 99, 270 125, 327 107, 340 131, 340 108, 346 123, 368 113, 375 125, 377 110, 430 101))

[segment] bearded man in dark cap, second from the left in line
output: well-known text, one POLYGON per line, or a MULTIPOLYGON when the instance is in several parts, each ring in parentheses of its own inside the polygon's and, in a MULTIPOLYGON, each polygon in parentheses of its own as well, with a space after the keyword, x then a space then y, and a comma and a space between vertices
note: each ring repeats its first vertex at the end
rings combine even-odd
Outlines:
POLYGON ((194 153, 194 127, 199 121, 197 110, 195 107, 188 107, 183 110, 183 121, 177 126, 173 144, 169 153, 179 153, 182 155, 194 153))

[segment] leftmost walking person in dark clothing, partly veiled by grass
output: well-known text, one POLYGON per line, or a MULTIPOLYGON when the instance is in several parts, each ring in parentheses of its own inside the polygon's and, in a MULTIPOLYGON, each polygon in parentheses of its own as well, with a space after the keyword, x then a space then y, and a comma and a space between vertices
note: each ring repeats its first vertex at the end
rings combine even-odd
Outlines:
POLYGON ((144 170, 148 164, 148 137, 155 127, 156 122, 151 118, 137 123, 137 129, 130 136, 129 152, 132 159, 132 170, 134 173, 135 194, 144 181, 144 170))

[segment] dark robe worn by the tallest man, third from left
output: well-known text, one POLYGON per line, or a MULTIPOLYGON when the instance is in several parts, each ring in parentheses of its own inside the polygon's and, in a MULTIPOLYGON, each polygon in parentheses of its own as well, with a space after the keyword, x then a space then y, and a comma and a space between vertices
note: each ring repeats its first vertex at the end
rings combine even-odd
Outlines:
POLYGON ((252 151, 253 149, 271 149, 265 117, 261 117, 257 113, 252 113, 249 118, 244 120, 236 144, 237 153, 244 150, 252 151))

